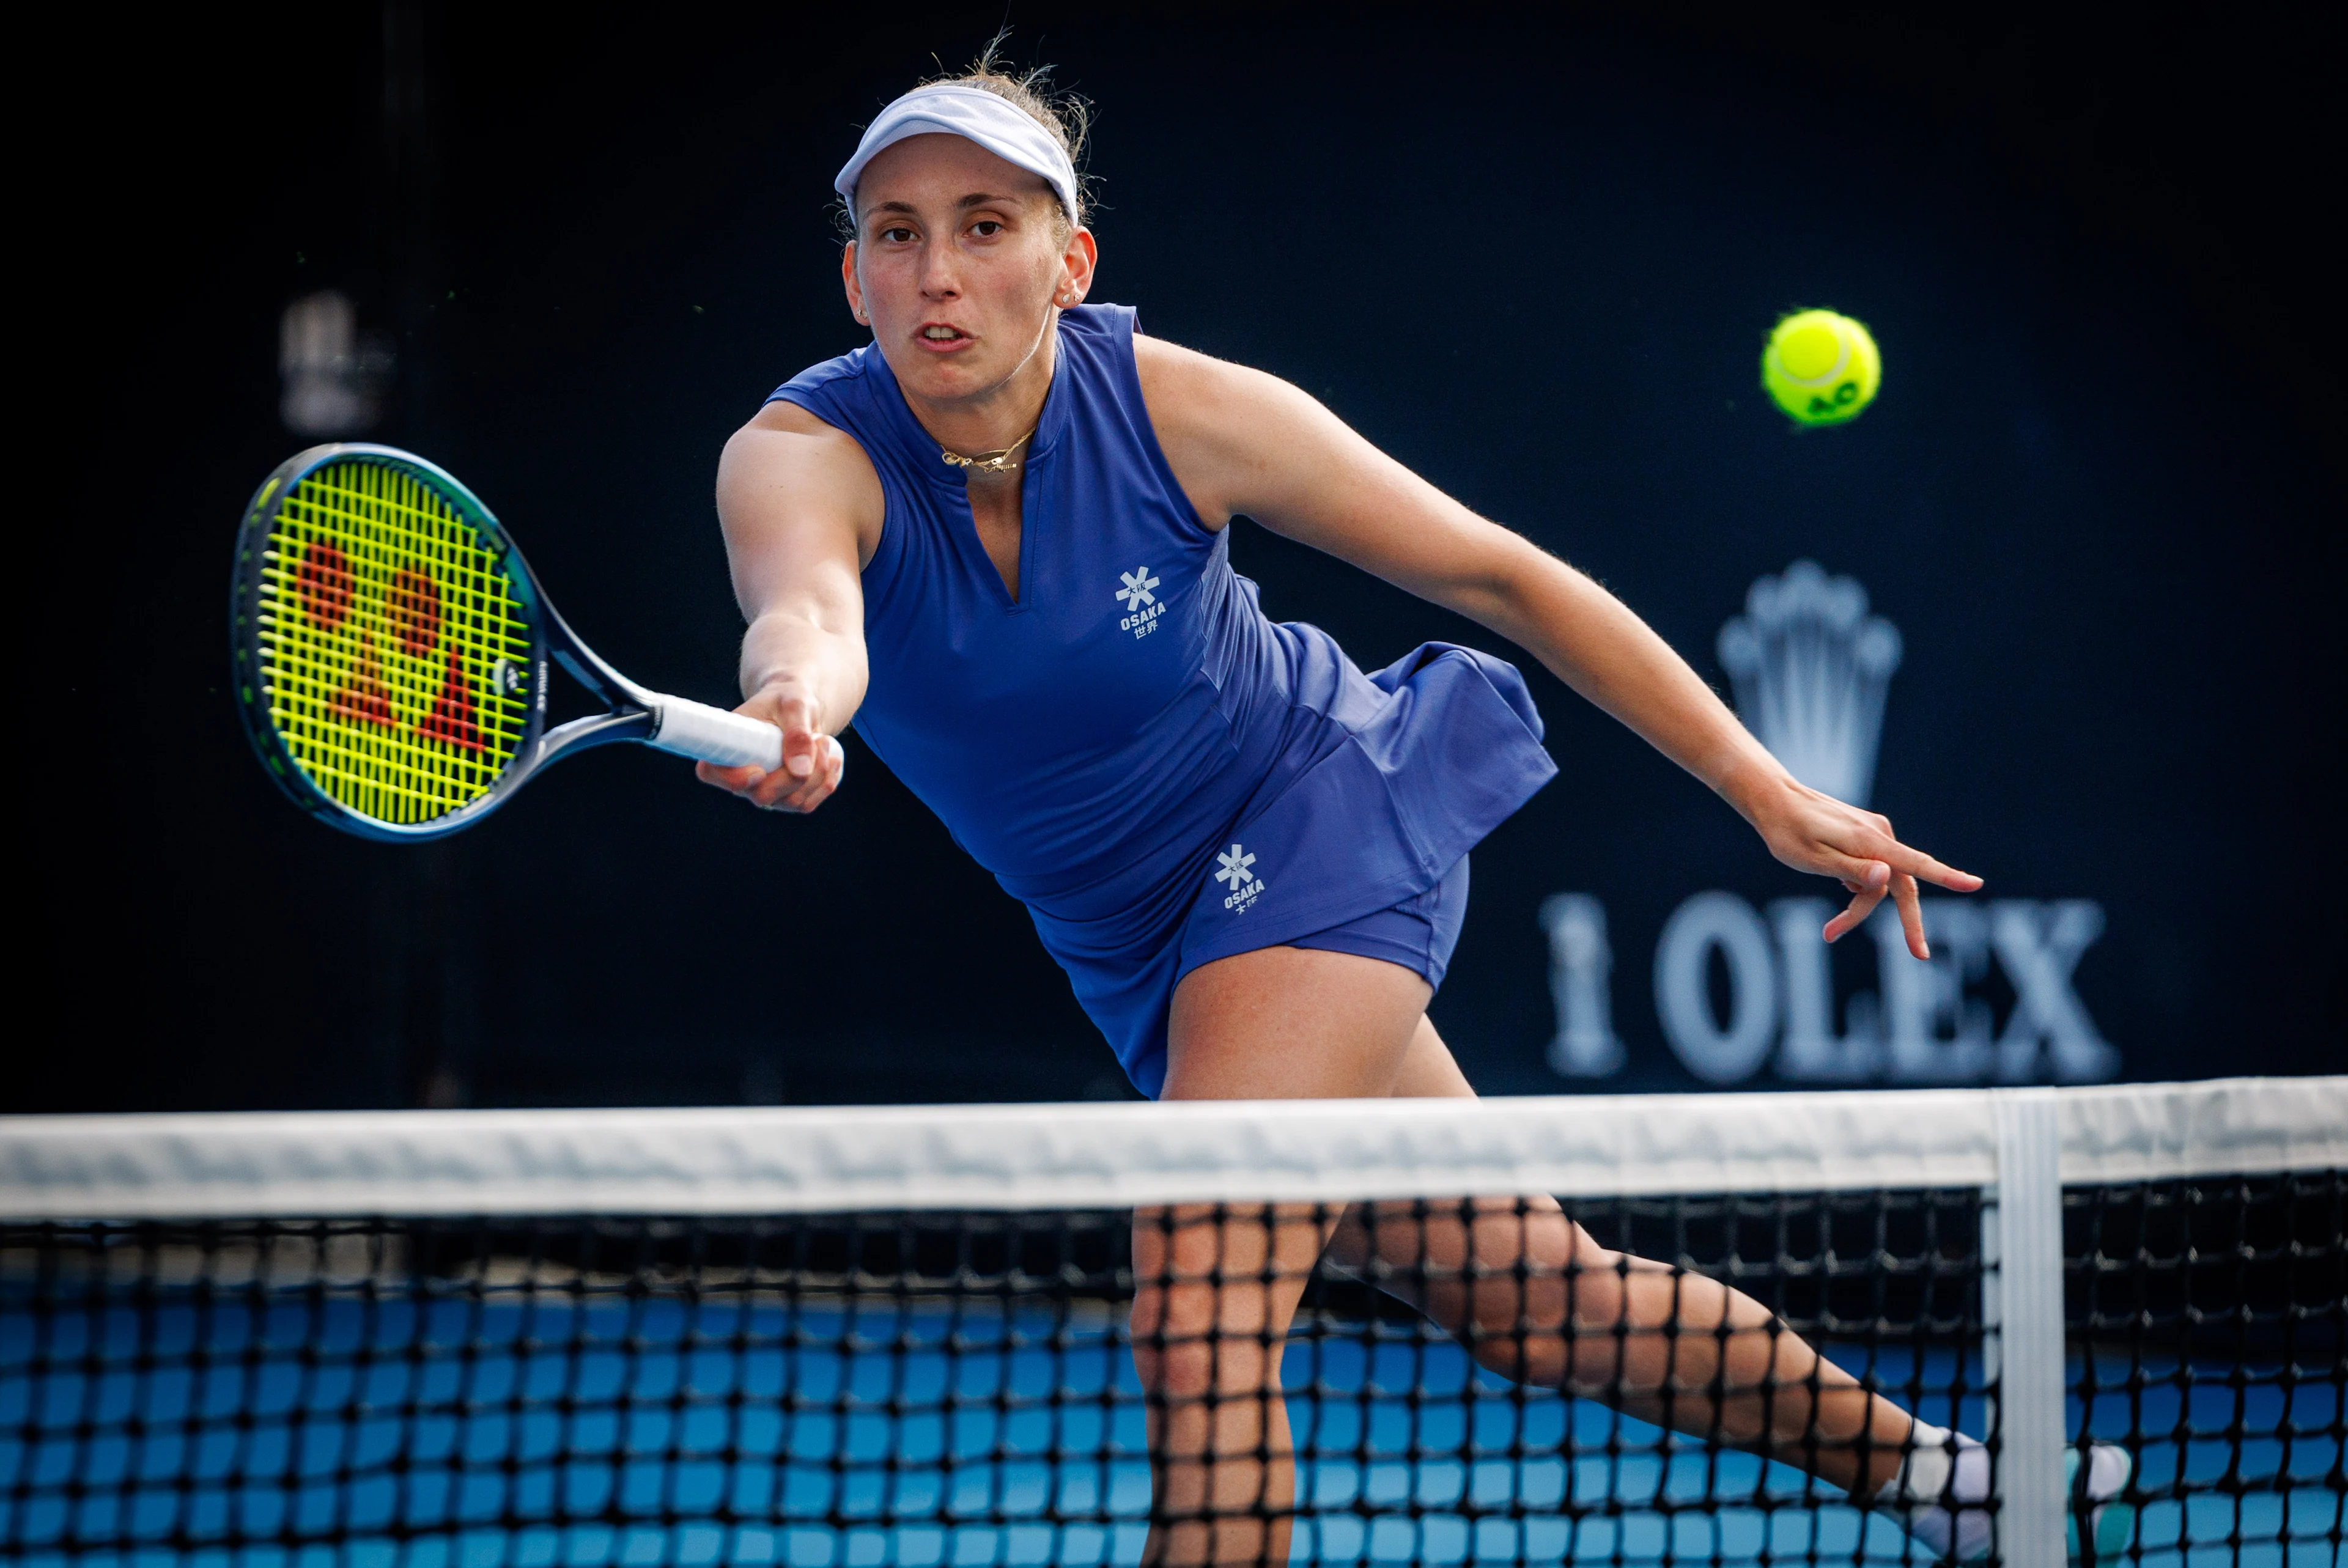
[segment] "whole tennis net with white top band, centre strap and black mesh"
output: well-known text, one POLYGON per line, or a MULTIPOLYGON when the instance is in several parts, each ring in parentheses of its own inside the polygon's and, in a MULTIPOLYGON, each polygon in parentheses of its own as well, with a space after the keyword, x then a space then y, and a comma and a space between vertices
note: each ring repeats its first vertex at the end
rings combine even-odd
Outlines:
POLYGON ((2334 1566, 2343 1167, 2348 1077, 14 1117, 0 1549, 2334 1566))

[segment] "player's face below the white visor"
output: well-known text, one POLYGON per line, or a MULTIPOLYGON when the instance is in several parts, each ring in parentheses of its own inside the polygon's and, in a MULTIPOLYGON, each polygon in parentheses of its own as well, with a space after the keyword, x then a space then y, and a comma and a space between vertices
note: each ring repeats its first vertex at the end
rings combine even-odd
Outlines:
POLYGON ((1082 293, 1092 235, 1059 237, 1052 188, 974 141, 906 136, 857 181, 857 239, 841 265, 913 397, 986 397, 1038 354, 1052 305, 1082 293))

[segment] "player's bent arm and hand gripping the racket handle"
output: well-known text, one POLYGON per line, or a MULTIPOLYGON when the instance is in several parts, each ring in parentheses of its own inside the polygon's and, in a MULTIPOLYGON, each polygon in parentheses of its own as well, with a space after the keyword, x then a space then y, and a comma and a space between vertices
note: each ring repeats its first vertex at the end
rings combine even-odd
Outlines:
POLYGON ((864 702, 862 570, 880 540, 864 448, 794 404, 768 404, 718 458, 718 521, 742 636, 737 714, 782 730, 782 768, 695 772, 754 805, 812 812, 841 786, 834 739, 864 702))

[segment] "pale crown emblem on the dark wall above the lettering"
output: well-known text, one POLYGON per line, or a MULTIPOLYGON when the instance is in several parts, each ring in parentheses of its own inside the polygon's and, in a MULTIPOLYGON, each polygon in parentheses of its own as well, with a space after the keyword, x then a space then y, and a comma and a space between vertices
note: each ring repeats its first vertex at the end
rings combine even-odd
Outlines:
POLYGON ((1721 627, 1738 718, 1796 779, 1867 805, 1883 739, 1883 695, 1900 669, 1900 629, 1867 613, 1855 577, 1794 561, 1756 577, 1745 615, 1721 627))

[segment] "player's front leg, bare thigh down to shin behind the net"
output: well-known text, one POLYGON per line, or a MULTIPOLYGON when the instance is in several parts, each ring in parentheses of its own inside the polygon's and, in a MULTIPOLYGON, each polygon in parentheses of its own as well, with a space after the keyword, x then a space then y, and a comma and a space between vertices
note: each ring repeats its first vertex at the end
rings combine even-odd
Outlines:
MULTIPOLYGON (((1378 1099, 1428 1005, 1376 958, 1261 948, 1174 993, 1162 1099, 1378 1099)), ((1287 1563, 1296 1467, 1280 1350, 1336 1223, 1313 1204, 1134 1214, 1134 1366, 1155 1514, 1146 1563, 1287 1563)))

